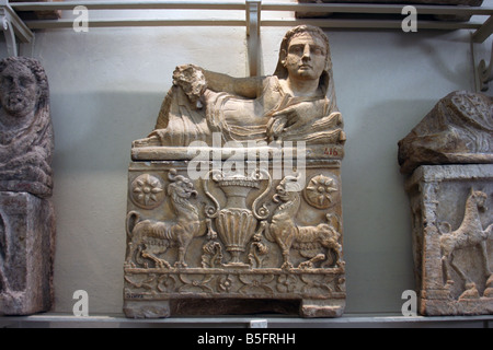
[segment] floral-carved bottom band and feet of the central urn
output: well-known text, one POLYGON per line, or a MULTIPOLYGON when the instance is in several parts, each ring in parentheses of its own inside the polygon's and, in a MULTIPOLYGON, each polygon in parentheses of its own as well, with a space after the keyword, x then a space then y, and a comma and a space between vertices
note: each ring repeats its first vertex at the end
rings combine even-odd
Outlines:
POLYGON ((345 278, 341 269, 128 268, 124 298, 133 318, 186 314, 187 304, 194 314, 293 313, 298 306, 302 317, 340 317, 345 278), (273 299, 279 302, 273 305, 273 299))

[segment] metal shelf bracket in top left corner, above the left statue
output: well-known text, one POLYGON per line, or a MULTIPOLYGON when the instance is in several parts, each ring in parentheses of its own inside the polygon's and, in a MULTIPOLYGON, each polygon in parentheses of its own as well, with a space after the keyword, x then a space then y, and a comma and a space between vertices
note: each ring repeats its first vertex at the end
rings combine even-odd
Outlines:
POLYGON ((5 36, 7 51, 9 56, 19 55, 18 39, 19 43, 23 45, 23 50, 28 50, 32 54, 34 34, 18 16, 15 11, 12 10, 8 0, 0 0, 0 24, 5 36))

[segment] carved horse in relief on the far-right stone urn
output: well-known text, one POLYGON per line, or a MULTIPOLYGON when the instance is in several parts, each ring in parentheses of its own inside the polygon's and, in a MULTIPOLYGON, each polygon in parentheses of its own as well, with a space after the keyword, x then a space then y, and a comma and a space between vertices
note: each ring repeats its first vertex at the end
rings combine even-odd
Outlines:
MULTIPOLYGON (((475 283, 460 269, 460 267, 454 261, 454 253, 458 249, 468 247, 480 246, 482 254, 482 261, 486 278, 491 280, 492 271, 490 270, 489 257, 488 257, 488 238, 492 234, 493 224, 489 225, 486 230, 483 230, 480 220, 480 210, 485 210, 488 196, 483 191, 471 189, 470 195, 466 201, 466 212, 459 229, 448 233, 442 233, 440 248, 442 248, 442 262, 447 279, 446 284, 454 284, 454 280, 450 275, 450 267, 460 276, 466 282, 466 292, 460 299, 479 298, 479 293, 475 288, 475 283)), ((442 223, 443 225, 451 228, 449 223, 442 223)), ((488 283, 486 283, 488 284, 488 283)))

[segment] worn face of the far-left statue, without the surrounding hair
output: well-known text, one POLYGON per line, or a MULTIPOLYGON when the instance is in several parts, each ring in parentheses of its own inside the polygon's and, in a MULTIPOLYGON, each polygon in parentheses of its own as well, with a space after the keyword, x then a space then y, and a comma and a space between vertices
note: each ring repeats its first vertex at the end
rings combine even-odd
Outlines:
POLYGON ((0 103, 8 114, 24 117, 34 110, 37 83, 24 65, 11 65, 0 74, 0 103))

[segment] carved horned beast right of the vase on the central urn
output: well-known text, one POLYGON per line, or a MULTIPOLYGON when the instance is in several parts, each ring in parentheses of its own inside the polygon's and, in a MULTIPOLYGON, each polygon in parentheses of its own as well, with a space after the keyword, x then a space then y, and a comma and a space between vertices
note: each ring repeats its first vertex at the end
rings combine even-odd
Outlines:
MULTIPOLYGON (((328 260, 328 256, 318 254, 322 247, 328 249, 328 255, 333 252, 335 264, 342 267, 344 265, 342 245, 339 243, 341 234, 334 228, 333 218, 328 215, 329 223, 318 226, 298 226, 295 218, 301 203, 301 197, 299 191, 286 190, 289 182, 296 183, 298 179, 294 176, 286 176, 276 187, 273 199, 280 205, 274 211, 271 223, 265 229, 266 238, 276 242, 282 249, 284 259, 282 268, 293 268, 289 259, 291 248, 309 258, 308 261, 301 262, 299 268, 311 268, 313 262, 328 260)), ((322 264, 322 266, 324 265, 322 264)))

